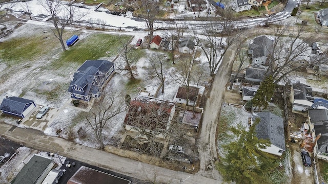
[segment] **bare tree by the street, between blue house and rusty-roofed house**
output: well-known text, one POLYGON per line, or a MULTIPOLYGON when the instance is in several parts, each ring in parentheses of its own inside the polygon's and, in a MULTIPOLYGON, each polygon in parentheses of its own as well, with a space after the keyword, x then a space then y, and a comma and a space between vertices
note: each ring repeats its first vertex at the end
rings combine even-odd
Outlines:
POLYGON ((96 102, 86 116, 86 120, 93 130, 101 150, 105 148, 104 140, 106 137, 104 131, 112 128, 110 124, 116 121, 117 114, 124 111, 126 107, 125 99, 117 91, 109 91, 104 95, 106 96, 96 102))

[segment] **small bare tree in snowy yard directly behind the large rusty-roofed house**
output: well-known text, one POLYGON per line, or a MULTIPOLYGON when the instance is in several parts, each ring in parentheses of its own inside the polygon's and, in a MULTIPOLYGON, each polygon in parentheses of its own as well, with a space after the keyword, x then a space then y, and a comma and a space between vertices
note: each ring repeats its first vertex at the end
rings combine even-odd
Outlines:
POLYGON ((162 85, 161 93, 164 93, 164 82, 167 70, 165 70, 165 60, 166 56, 160 53, 152 53, 151 56, 148 57, 150 63, 150 70, 148 71, 148 75, 150 79, 157 78, 162 85))

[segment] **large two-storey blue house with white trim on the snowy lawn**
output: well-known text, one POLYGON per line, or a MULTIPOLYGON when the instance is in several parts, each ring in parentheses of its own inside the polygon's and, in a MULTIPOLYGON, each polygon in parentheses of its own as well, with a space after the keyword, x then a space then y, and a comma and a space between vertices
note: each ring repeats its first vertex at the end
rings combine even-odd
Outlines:
POLYGON ((107 60, 87 60, 74 73, 68 88, 72 99, 89 102, 99 98, 104 84, 114 73, 114 63, 107 60))

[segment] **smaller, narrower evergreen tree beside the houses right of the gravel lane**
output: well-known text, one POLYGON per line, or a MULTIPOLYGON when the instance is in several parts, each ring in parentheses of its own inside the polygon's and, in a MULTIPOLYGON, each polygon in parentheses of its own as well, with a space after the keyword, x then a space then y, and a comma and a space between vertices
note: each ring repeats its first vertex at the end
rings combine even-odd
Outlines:
POLYGON ((272 75, 265 78, 258 88, 254 98, 252 99, 252 103, 254 107, 258 107, 261 109, 261 107, 264 107, 264 109, 267 109, 269 106, 268 101, 273 97, 274 94, 274 79, 272 75))

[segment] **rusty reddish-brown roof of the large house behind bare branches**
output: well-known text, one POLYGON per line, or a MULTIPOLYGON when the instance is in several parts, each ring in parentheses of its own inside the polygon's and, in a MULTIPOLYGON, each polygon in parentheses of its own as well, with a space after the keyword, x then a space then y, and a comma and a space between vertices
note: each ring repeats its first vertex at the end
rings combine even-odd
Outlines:
POLYGON ((149 130, 165 130, 174 106, 175 102, 139 95, 131 100, 124 123, 149 130))

